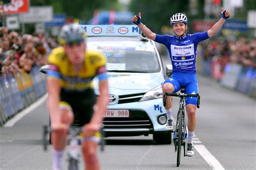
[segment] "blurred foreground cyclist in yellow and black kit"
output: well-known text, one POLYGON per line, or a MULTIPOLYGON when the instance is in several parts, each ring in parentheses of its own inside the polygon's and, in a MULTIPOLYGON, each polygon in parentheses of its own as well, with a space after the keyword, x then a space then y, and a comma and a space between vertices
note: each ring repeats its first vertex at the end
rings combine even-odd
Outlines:
POLYGON ((104 55, 86 50, 86 34, 79 24, 64 25, 58 40, 62 46, 52 50, 47 71, 48 107, 51 120, 53 169, 63 168, 63 152, 68 128, 73 120, 83 126, 82 144, 86 169, 99 169, 97 146, 109 102, 104 55), (93 78, 98 77, 99 96, 93 91, 93 78))

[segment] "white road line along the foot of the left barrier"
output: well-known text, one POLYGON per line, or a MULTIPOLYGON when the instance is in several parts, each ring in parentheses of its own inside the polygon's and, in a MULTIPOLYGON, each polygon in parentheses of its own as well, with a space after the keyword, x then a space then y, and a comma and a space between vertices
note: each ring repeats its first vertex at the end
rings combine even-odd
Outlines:
POLYGON ((36 107, 42 105, 44 103, 45 99, 47 98, 48 93, 44 94, 43 97, 39 98, 35 103, 31 104, 29 107, 25 108, 22 112, 19 112, 15 115, 15 117, 8 120, 4 127, 12 127, 14 124, 17 123, 17 121, 21 120, 26 114, 29 114, 31 111, 33 111, 36 107))

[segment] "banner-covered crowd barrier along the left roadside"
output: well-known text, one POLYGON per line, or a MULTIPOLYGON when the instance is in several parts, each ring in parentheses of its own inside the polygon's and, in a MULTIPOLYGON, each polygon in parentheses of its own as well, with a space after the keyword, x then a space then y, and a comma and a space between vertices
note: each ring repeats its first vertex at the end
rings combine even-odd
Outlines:
POLYGON ((46 77, 34 66, 30 73, 25 71, 0 76, 0 126, 28 107, 46 92, 46 77))

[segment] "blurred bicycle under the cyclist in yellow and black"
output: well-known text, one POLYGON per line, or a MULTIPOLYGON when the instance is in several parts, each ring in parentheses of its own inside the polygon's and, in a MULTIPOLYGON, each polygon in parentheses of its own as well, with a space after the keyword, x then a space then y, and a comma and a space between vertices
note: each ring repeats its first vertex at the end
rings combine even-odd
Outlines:
MULTIPOLYGON (((69 128, 69 137, 68 137, 68 169, 69 170, 78 170, 79 169, 79 151, 78 145, 82 144, 86 140, 98 140, 100 138, 100 151, 104 151, 104 131, 103 126, 100 128, 100 131, 96 133, 93 137, 83 138, 82 135, 82 127, 70 127, 69 128)), ((50 128, 47 123, 43 125, 43 148, 44 151, 47 151, 47 146, 49 144, 49 140, 47 139, 48 133, 50 132, 50 128)))

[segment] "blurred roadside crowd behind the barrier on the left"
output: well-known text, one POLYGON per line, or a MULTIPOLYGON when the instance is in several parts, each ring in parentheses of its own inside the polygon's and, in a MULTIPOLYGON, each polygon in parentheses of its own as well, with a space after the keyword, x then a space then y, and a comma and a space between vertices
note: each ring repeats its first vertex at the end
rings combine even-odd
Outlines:
POLYGON ((16 31, 0 28, 0 76, 25 71, 35 65, 45 65, 47 56, 57 44, 43 33, 21 35, 16 31))

